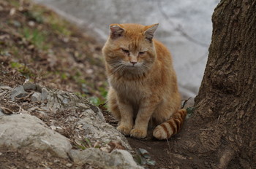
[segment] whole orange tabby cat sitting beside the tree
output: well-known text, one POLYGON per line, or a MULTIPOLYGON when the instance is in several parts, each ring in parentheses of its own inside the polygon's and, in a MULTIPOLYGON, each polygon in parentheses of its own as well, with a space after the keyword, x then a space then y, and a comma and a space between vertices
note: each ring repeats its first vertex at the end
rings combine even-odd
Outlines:
POLYGON ((103 47, 110 89, 108 109, 124 135, 170 138, 178 132, 187 111, 178 110, 181 98, 167 48, 153 39, 158 24, 111 24, 103 47))

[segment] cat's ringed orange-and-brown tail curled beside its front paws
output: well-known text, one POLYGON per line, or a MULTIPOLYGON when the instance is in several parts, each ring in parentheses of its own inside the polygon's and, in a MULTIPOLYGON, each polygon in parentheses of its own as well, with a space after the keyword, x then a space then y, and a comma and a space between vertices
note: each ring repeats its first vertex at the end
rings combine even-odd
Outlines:
POLYGON ((177 113, 173 114, 170 119, 157 125, 153 131, 155 138, 159 140, 164 140, 170 138, 170 136, 175 135, 181 129, 184 123, 184 119, 187 116, 187 110, 181 109, 177 113))

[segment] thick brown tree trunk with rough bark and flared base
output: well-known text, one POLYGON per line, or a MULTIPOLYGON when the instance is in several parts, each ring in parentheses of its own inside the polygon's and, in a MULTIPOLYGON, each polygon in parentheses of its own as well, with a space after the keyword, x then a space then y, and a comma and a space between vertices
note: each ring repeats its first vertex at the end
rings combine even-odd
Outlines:
MULTIPOLYGON (((256 1, 222 0, 195 112, 173 139, 173 168, 256 168, 256 1)), ((185 122, 186 123, 186 122, 185 122)))

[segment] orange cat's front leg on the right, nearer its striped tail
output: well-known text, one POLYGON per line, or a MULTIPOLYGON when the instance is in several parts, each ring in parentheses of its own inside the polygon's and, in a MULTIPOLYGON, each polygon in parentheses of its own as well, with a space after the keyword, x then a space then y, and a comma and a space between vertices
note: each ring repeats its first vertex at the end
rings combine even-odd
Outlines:
POLYGON ((129 133, 135 138, 146 138, 148 130, 148 122, 151 118, 154 110, 156 109, 157 101, 145 101, 140 105, 137 117, 135 119, 135 125, 129 133))

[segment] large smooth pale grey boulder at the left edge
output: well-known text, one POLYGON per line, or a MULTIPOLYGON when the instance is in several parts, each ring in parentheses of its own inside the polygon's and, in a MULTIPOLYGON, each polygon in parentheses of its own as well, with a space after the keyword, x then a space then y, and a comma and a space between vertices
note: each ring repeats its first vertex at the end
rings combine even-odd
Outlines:
POLYGON ((18 149, 33 147, 68 158, 72 148, 68 138, 50 130, 42 120, 29 114, 0 117, 0 146, 18 149))

